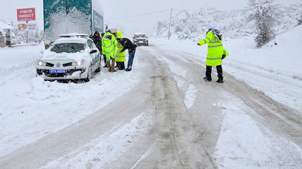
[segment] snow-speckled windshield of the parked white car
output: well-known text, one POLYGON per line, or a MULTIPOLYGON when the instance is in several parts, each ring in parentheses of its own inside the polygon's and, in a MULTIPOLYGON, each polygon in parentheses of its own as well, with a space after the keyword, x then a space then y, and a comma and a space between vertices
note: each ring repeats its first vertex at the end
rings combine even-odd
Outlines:
POLYGON ((50 51, 55 53, 77 53, 84 49, 84 43, 57 43, 52 46, 50 51))

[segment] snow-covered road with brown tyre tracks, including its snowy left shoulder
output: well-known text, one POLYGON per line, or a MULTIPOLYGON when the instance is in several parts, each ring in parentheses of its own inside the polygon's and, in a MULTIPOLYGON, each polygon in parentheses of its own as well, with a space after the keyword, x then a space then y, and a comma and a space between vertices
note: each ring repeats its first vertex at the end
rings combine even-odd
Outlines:
POLYGON ((286 106, 227 72, 224 84, 204 82, 198 49, 154 41, 133 71, 84 84, 34 78, 39 47, 1 65, 0 168, 302 168, 300 100, 286 106))

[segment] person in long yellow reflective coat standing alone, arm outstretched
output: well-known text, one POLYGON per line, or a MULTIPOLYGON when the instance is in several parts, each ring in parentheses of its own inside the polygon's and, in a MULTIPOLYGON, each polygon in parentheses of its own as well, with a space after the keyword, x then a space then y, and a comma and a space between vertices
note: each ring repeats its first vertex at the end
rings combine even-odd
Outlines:
POLYGON ((222 44, 222 35, 220 35, 219 30, 214 29, 214 24, 208 25, 208 32, 206 33, 206 37, 197 43, 198 46, 202 46, 204 44, 208 44, 208 54, 205 62, 206 72, 205 77, 203 78, 205 81, 212 81, 212 66, 216 66, 218 80, 217 83, 223 83, 223 73, 221 61, 226 58, 229 54, 226 50, 223 49, 222 44))

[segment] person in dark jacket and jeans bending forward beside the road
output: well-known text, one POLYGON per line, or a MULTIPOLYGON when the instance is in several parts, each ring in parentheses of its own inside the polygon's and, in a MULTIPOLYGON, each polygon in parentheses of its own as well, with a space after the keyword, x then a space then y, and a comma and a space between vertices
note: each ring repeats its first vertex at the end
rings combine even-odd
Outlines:
POLYGON ((124 52, 128 49, 129 58, 128 58, 128 66, 126 71, 129 72, 132 70, 133 59, 135 55, 135 51, 137 49, 137 45, 133 44, 131 40, 128 38, 117 38, 118 42, 124 47, 120 52, 124 52))

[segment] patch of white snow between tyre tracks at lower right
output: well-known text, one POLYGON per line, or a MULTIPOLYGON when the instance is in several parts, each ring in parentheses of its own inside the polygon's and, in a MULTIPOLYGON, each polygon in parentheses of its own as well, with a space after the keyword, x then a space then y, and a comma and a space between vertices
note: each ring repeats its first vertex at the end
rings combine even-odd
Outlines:
POLYGON ((214 155, 220 169, 302 168, 299 146, 251 119, 247 112, 253 110, 242 101, 227 100, 213 105, 225 114, 214 155))

